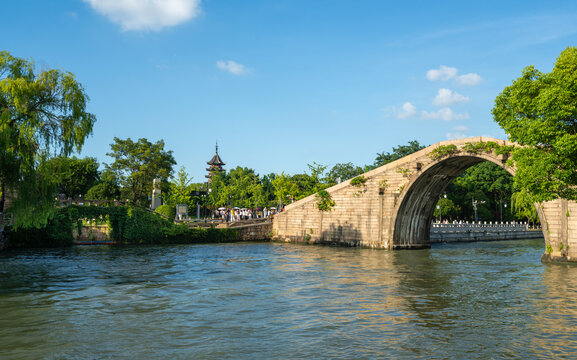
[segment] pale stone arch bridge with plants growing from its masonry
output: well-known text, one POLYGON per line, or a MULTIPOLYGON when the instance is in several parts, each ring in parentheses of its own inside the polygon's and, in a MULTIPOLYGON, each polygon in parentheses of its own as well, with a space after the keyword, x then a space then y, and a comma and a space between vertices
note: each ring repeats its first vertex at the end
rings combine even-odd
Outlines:
MULTIPOLYGON (((335 202, 330 211, 318 210, 315 195, 287 205, 274 217, 274 238, 381 249, 429 247, 433 210, 445 188, 484 161, 514 176, 515 169, 506 163, 510 146, 486 137, 431 145, 326 189, 335 202)), ((550 245, 544 256, 577 261, 577 203, 555 200, 536 206, 550 245)))

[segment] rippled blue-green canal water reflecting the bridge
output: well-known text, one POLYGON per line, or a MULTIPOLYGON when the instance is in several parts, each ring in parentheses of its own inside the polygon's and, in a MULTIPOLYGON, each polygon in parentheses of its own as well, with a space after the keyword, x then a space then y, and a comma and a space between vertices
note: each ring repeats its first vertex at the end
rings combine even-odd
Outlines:
POLYGON ((560 359, 577 266, 543 240, 0 253, 0 359, 560 359))

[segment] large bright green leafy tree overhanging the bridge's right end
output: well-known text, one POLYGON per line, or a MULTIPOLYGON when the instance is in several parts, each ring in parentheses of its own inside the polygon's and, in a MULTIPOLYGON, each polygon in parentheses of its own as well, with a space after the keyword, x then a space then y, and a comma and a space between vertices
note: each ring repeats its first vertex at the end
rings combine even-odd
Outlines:
POLYGON ((550 73, 526 67, 492 113, 521 145, 512 155, 515 188, 537 202, 577 200, 577 48, 561 52, 550 73))

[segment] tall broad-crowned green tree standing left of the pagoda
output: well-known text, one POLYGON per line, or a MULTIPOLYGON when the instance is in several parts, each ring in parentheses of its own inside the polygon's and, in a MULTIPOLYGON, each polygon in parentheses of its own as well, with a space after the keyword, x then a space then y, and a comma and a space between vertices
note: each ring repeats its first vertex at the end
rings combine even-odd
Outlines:
POLYGON ((112 152, 106 154, 114 159, 107 165, 120 181, 126 196, 134 203, 148 205, 148 195, 152 193, 152 181, 161 180, 162 192, 168 189, 168 179, 176 164, 172 151, 164 150, 164 141, 151 143, 147 139, 138 142, 114 138, 110 145, 112 152))

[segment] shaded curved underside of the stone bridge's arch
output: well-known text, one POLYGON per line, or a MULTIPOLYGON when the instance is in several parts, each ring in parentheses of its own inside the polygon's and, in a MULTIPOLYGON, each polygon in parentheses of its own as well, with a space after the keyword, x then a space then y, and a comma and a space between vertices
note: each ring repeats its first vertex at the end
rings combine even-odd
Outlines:
POLYGON ((429 247, 431 223, 439 196, 466 169, 485 161, 503 167, 514 176, 514 170, 505 166, 504 160, 483 155, 451 156, 423 169, 417 178, 407 184, 404 195, 401 194, 401 202, 393 221, 392 248, 429 247))

